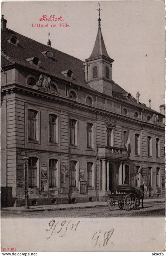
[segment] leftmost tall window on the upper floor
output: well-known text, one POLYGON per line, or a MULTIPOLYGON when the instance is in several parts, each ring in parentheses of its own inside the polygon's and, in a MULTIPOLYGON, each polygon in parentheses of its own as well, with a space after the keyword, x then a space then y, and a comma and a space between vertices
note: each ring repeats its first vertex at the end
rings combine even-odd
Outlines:
POLYGON ((38 112, 28 109, 28 140, 38 140, 38 112))

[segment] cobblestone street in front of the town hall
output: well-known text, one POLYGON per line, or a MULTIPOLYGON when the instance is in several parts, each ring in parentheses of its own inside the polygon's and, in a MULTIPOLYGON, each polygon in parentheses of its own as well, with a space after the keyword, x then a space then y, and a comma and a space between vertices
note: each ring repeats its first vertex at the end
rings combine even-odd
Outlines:
POLYGON ((4 218, 109 218, 109 217, 155 217, 165 215, 165 202, 162 203, 145 203, 144 208, 130 211, 120 210, 117 205, 110 211, 107 206, 92 208, 77 208, 64 210, 44 210, 28 211, 25 210, 1 210, 1 217, 4 218))

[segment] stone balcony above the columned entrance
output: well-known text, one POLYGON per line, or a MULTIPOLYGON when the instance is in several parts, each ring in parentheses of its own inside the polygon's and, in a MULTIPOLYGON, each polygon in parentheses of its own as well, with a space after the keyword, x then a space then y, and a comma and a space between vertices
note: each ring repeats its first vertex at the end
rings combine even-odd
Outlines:
POLYGON ((98 158, 116 158, 116 159, 126 159, 127 150, 126 148, 116 148, 110 146, 98 146, 98 158))

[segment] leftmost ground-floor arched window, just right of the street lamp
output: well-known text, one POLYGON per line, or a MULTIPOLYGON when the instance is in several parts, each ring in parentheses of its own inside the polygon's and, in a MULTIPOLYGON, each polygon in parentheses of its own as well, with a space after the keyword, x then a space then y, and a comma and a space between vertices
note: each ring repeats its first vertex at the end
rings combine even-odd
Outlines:
POLYGON ((28 187, 37 187, 37 157, 29 157, 28 160, 28 187))

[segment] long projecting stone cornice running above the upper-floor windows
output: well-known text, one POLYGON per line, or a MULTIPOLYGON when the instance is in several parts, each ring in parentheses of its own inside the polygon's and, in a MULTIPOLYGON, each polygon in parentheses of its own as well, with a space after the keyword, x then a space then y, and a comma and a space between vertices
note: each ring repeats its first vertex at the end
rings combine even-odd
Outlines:
POLYGON ((24 85, 19 85, 16 83, 13 83, 11 85, 7 85, 5 87, 1 87, 1 92, 4 93, 5 95, 8 94, 12 94, 12 93, 28 93, 29 95, 34 95, 37 97, 41 97, 47 100, 51 100, 51 101, 57 101, 60 102, 61 104, 67 104, 68 106, 71 106, 73 108, 79 108, 79 109, 83 109, 83 110, 88 110, 90 112, 96 113, 96 114, 102 114, 105 116, 109 116, 111 118, 115 118, 115 119, 119 119, 128 123, 134 123, 136 125, 140 125, 140 126, 145 126, 145 127, 151 127, 153 129, 158 129, 158 130, 162 130, 164 131, 165 128, 155 125, 155 124, 151 124, 151 123, 146 123, 145 121, 141 121, 141 120, 135 120, 132 119, 128 116, 124 116, 122 114, 117 114, 117 113, 113 113, 113 112, 109 112, 107 110, 102 110, 99 109, 97 107, 94 106, 87 106, 84 103, 81 102, 77 102, 74 101, 72 99, 67 99, 58 95, 53 95, 51 93, 47 93, 44 91, 39 91, 30 87, 25 87, 24 85))

